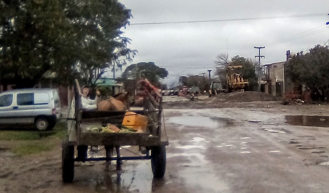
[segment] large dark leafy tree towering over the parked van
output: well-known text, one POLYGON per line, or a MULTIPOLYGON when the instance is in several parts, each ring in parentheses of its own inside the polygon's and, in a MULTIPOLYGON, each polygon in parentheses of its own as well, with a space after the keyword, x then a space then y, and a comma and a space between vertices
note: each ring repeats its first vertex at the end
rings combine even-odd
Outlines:
POLYGON ((130 59, 119 29, 131 13, 117 0, 0 0, 0 12, 2 84, 32 87, 45 72, 90 82, 119 56, 130 59))

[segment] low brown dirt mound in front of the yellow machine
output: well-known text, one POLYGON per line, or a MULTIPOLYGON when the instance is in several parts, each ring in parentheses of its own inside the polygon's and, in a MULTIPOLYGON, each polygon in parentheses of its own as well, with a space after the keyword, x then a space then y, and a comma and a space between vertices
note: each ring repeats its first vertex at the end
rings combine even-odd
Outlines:
POLYGON ((278 100, 275 96, 268 95, 261 92, 246 91, 246 92, 232 92, 220 93, 217 95, 219 100, 228 100, 234 102, 251 102, 251 101, 275 101, 278 100))

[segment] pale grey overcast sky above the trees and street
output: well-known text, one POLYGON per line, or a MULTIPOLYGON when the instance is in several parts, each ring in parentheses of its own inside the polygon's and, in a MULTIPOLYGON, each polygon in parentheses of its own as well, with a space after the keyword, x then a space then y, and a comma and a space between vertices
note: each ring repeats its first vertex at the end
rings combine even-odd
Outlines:
MULTIPOLYGON (((179 75, 201 75, 215 70, 216 55, 228 53, 255 58, 254 46, 265 46, 262 64, 284 61, 286 51, 306 52, 329 39, 328 0, 120 0, 132 10, 131 24, 225 20, 319 14, 323 16, 203 23, 130 25, 125 36, 138 50, 132 63, 153 61, 179 75)), ((128 64, 129 65, 129 64, 128 64)))

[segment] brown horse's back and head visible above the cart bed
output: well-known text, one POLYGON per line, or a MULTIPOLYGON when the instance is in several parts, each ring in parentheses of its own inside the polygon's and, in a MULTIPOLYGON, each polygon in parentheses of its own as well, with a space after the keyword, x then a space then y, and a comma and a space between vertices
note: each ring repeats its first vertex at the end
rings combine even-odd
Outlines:
POLYGON ((102 100, 97 104, 99 111, 124 111, 129 110, 131 101, 129 100, 129 93, 119 93, 110 96, 106 100, 102 100))

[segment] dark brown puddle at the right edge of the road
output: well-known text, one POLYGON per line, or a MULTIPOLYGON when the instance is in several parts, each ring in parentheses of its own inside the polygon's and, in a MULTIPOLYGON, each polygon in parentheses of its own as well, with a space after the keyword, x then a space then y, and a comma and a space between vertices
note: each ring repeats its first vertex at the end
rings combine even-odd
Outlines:
POLYGON ((290 125, 329 127, 328 116, 286 115, 286 120, 290 125))

